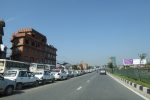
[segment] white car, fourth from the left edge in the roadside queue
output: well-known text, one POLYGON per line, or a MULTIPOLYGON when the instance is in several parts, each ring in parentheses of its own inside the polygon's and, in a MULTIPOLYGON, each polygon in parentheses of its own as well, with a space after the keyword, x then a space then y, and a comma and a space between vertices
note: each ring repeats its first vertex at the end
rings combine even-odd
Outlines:
POLYGON ((53 69, 52 74, 55 77, 55 80, 64 80, 67 79, 67 74, 63 69, 53 69))

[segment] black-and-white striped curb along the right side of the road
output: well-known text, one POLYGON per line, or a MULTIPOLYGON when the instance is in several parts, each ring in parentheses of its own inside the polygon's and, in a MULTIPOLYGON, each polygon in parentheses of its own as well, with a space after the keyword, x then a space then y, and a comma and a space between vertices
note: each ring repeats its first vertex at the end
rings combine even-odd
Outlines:
POLYGON ((139 85, 137 83, 131 82, 129 80, 126 80, 124 78, 120 78, 120 77, 115 77, 112 74, 108 74, 110 77, 117 79, 118 81, 120 81, 121 83, 123 83, 124 85, 126 85, 127 87, 131 87, 132 90, 138 92, 141 95, 144 95, 146 98, 146 100, 150 100, 150 88, 148 87, 144 87, 142 85, 139 85))

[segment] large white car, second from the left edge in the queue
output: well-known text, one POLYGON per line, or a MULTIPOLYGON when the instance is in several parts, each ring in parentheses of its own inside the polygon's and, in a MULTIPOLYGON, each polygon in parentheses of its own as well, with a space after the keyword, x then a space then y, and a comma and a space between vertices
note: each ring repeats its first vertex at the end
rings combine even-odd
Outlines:
POLYGON ((20 90, 23 86, 34 85, 38 86, 38 79, 33 73, 27 70, 12 69, 4 74, 4 78, 16 81, 16 89, 20 90))

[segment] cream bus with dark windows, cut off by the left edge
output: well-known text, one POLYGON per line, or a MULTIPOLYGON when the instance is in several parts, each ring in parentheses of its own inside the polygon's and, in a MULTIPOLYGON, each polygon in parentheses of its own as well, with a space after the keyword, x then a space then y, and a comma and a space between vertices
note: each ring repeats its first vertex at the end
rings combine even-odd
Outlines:
POLYGON ((25 69, 29 70, 30 63, 15 61, 15 60, 7 60, 0 59, 0 74, 3 74, 9 69, 25 69))

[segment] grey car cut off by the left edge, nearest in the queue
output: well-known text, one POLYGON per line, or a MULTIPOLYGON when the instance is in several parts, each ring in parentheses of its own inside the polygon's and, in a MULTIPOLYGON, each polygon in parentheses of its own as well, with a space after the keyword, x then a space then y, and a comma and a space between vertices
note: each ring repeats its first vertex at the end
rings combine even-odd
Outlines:
POLYGON ((5 95, 13 94, 16 87, 16 82, 12 80, 5 79, 0 75, 0 93, 5 95))

